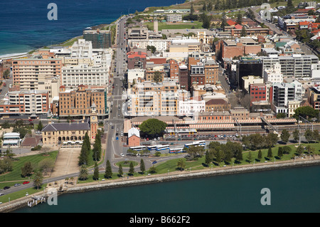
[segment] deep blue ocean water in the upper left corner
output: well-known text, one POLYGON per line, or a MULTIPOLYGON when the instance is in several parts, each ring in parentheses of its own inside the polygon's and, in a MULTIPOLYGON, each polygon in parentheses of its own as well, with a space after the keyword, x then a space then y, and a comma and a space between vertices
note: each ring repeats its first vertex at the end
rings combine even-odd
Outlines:
POLYGON ((26 53, 81 36, 84 28, 111 23, 123 14, 149 6, 181 4, 175 0, 13 0, 1 2, 0 56, 26 53), (48 20, 49 3, 58 7, 58 20, 48 20))

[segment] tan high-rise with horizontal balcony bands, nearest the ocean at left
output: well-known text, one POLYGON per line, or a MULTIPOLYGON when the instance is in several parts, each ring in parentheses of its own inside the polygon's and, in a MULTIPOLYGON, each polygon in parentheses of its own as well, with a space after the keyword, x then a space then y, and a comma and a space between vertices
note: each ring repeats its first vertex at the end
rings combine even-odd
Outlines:
POLYGON ((31 58, 13 59, 14 85, 18 85, 20 90, 39 90, 38 81, 61 75, 61 68, 62 60, 49 51, 35 53, 31 58))

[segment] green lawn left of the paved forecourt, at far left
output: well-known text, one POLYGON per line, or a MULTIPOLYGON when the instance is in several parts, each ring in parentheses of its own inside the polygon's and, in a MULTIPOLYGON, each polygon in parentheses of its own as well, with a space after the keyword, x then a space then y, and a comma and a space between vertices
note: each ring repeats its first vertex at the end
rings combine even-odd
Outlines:
MULTIPOLYGON (((35 154, 35 155, 26 156, 26 157, 16 158, 17 160, 13 162, 13 166, 14 166, 13 171, 6 173, 6 174, 1 174, 0 175, 0 182, 28 180, 28 177, 27 178, 21 177, 21 167, 23 167, 23 165, 26 162, 31 162, 33 167, 37 167, 37 164, 39 162, 41 162, 41 160, 47 159, 47 158, 55 160, 57 155, 58 155, 58 151, 55 151, 55 152, 48 153, 48 156, 43 155, 43 154, 35 154)), ((32 179, 32 175, 30 178, 32 179)))

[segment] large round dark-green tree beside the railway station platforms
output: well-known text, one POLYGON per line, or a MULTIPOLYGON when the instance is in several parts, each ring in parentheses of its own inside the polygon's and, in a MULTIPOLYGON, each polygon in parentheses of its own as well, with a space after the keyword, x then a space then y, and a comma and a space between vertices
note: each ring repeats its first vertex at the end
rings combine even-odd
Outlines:
POLYGON ((156 135, 162 134, 166 129, 166 123, 161 120, 157 120, 156 118, 150 118, 142 122, 139 125, 139 129, 142 133, 154 137, 156 135))

